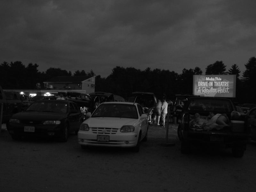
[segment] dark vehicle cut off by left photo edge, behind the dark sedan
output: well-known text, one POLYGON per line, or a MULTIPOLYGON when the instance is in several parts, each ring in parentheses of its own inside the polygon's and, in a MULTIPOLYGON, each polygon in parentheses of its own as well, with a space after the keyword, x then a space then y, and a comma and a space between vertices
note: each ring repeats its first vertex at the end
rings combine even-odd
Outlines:
POLYGON ((15 91, 3 91, 0 86, 0 125, 7 123, 12 114, 21 111, 20 94, 15 91))

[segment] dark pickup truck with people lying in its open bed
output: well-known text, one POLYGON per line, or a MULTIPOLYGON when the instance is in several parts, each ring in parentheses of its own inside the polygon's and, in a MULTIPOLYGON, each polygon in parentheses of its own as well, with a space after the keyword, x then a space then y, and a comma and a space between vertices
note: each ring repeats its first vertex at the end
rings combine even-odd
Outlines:
POLYGON ((208 143, 231 148, 233 156, 243 157, 250 130, 250 117, 237 112, 230 99, 190 97, 177 132, 181 153, 188 153, 193 143, 208 143))

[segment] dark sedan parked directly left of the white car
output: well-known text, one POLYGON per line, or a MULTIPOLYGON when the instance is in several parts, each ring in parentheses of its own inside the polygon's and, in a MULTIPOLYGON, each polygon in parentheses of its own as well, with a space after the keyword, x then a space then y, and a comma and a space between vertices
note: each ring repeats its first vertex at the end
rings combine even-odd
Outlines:
POLYGON ((82 113, 71 101, 35 101, 25 111, 12 115, 7 130, 13 139, 21 136, 58 137, 68 140, 68 134, 78 133, 82 113))

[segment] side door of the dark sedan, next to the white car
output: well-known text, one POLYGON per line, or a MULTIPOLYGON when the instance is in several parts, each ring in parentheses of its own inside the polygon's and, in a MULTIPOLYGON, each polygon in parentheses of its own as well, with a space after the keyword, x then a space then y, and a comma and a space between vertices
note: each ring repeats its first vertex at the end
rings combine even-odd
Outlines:
POLYGON ((68 120, 70 124, 69 126, 70 132, 73 132, 79 129, 79 126, 81 124, 81 118, 82 118, 82 113, 80 110, 78 110, 76 104, 69 103, 68 120))

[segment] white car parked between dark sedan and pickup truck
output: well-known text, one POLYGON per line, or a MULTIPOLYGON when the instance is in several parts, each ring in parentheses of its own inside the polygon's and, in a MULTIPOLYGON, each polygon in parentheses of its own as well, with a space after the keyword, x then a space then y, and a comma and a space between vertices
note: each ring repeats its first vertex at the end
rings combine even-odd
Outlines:
POLYGON ((86 146, 132 147, 140 150, 140 141, 147 141, 148 115, 138 103, 105 102, 80 126, 78 143, 86 146))

